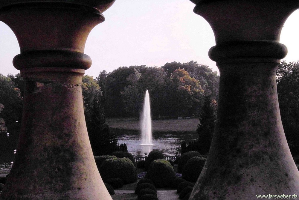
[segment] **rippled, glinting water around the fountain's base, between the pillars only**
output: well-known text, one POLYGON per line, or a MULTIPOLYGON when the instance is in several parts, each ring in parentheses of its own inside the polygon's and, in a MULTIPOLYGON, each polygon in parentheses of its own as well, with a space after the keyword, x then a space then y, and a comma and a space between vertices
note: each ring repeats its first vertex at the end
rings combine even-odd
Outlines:
POLYGON ((181 155, 181 143, 198 138, 196 133, 153 133, 153 145, 140 145, 141 134, 117 134, 119 143, 126 143, 128 152, 134 157, 144 157, 153 149, 163 152, 164 156, 181 155))

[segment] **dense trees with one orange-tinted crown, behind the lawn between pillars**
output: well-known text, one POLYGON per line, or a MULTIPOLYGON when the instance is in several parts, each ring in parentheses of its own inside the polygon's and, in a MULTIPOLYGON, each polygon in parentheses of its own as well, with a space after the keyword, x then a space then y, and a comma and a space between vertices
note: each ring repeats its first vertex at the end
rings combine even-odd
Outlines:
POLYGON ((119 67, 97 77, 108 117, 139 116, 149 91, 153 117, 198 116, 205 95, 217 99, 219 76, 208 66, 190 61, 162 67, 119 67))

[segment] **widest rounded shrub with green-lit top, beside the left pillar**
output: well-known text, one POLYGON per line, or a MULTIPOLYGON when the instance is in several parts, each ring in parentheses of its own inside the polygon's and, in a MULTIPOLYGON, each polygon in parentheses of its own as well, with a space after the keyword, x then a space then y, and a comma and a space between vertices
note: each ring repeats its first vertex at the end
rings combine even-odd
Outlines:
POLYGON ((129 158, 111 158, 104 160, 100 167, 100 175, 105 182, 109 178, 120 178, 123 184, 137 181, 137 171, 129 158))

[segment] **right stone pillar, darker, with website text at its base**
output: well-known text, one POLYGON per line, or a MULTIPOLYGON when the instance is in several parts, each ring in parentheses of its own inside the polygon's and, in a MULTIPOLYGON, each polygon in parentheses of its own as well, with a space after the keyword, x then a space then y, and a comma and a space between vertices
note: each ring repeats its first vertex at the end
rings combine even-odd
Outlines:
POLYGON ((210 152, 190 199, 256 199, 293 195, 299 172, 283 132, 276 67, 279 43, 296 0, 193 0, 211 25, 209 56, 220 71, 216 127, 210 152))

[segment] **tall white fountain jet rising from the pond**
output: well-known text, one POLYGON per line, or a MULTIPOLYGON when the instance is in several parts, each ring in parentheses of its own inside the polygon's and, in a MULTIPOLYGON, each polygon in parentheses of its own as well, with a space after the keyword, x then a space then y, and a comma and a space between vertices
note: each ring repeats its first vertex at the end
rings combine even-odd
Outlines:
POLYGON ((143 110, 141 115, 141 145, 153 145, 152 144, 152 119, 150 115, 150 103, 149 103, 149 92, 145 93, 143 110))

